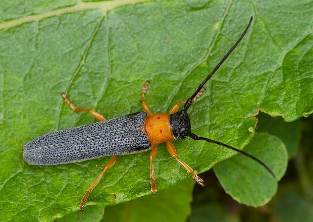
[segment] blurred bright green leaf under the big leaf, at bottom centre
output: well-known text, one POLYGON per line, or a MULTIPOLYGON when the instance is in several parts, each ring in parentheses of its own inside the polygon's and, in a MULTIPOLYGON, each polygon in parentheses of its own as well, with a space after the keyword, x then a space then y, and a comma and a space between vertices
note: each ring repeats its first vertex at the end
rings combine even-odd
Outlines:
POLYGON ((166 191, 158 192, 156 198, 148 195, 108 206, 103 221, 185 221, 190 214, 193 185, 189 178, 166 191))

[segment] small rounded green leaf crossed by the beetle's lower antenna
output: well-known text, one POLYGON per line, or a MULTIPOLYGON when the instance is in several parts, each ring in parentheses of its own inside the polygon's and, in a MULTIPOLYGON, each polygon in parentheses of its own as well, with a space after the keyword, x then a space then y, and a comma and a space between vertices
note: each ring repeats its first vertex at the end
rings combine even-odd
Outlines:
MULTIPOLYGON (((284 143, 277 137, 259 133, 244 151, 265 162, 277 180, 285 174, 288 153, 284 143)), ((226 193, 239 203, 262 206, 277 191, 276 179, 262 165, 241 154, 216 164, 214 172, 226 193)))

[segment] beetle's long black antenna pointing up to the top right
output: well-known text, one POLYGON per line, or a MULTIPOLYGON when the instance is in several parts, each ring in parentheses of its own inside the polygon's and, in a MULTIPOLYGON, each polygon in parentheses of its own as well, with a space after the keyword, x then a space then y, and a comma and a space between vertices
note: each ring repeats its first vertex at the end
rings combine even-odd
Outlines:
POLYGON ((198 94, 198 92, 203 88, 204 84, 213 76, 213 74, 220 68, 220 66, 224 63, 224 61, 228 58, 228 56, 230 55, 230 53, 235 49, 235 47, 239 44, 239 42, 241 41, 241 39, 243 38, 243 36, 247 33, 251 22, 252 22, 253 17, 251 16, 250 21, 247 25, 247 27, 245 28, 245 30, 242 32, 242 34, 240 35, 240 37, 238 38, 238 40, 236 41, 236 43, 229 49, 229 51, 226 53, 226 55, 224 55, 223 59, 219 62, 219 64, 214 68, 214 70, 208 74, 208 76, 205 78, 205 80, 199 85, 198 89, 193 93, 193 95, 187 99, 185 106, 184 106, 184 110, 187 111, 187 109, 189 108, 189 106, 191 105, 192 100, 194 99, 194 97, 198 94))

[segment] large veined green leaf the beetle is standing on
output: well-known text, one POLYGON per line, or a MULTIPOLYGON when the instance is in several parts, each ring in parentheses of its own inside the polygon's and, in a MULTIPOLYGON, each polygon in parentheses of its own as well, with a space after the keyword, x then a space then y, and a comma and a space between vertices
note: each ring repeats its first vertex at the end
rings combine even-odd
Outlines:
MULTIPOLYGON (((61 92, 111 119, 142 110, 141 86, 150 80, 147 103, 153 112, 167 112, 194 92, 251 15, 247 35, 188 110, 192 132, 241 149, 253 136, 258 109, 286 121, 313 112, 312 1, 130 2, 2 2, 10 6, 0 13, 3 220, 52 221, 77 211, 109 160, 51 167, 24 162, 22 147, 31 139, 94 121, 73 113, 61 92)), ((234 155, 191 139, 175 146, 197 173, 234 155)), ((150 194, 148 159, 148 152, 120 156, 87 205, 150 194)), ((190 177, 164 145, 154 165, 159 190, 190 177)))

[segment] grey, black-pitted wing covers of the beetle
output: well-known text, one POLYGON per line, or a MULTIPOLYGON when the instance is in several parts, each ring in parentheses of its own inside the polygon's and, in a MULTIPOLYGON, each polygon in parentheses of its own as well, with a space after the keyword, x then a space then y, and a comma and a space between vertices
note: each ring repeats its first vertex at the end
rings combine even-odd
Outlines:
POLYGON ((24 160, 55 165, 142 151, 150 147, 142 131, 145 118, 139 112, 37 137, 23 147, 24 160))

